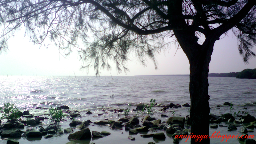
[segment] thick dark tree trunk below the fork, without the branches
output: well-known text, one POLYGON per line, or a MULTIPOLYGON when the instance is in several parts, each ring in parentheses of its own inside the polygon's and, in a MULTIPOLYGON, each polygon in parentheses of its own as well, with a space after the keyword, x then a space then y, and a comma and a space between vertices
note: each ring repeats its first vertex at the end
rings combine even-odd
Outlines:
MULTIPOLYGON (((209 136, 209 96, 208 96, 208 73, 211 57, 194 57, 189 60, 190 63, 190 119, 191 134, 209 136)), ((209 144, 210 139, 191 139, 191 144, 204 143, 209 144)))

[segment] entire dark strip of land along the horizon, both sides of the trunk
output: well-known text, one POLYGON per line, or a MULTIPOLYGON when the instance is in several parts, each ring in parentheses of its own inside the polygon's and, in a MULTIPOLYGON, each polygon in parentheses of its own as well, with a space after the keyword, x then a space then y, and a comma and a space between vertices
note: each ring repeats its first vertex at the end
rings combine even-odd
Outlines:
MULTIPOLYGON (((139 75, 139 76, 189 76, 189 75, 139 75)), ((254 69, 244 69, 241 72, 210 73, 208 76, 210 76, 210 77, 236 77, 236 78, 256 79, 256 68, 254 68, 254 69)))

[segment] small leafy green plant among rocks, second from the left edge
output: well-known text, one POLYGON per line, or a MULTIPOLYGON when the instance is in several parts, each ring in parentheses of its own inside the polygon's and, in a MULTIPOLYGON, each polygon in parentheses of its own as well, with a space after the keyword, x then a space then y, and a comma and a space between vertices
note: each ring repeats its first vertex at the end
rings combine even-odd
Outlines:
POLYGON ((64 117, 64 114, 60 108, 52 108, 52 106, 49 108, 51 120, 55 123, 55 125, 58 127, 60 126, 60 120, 64 117))

